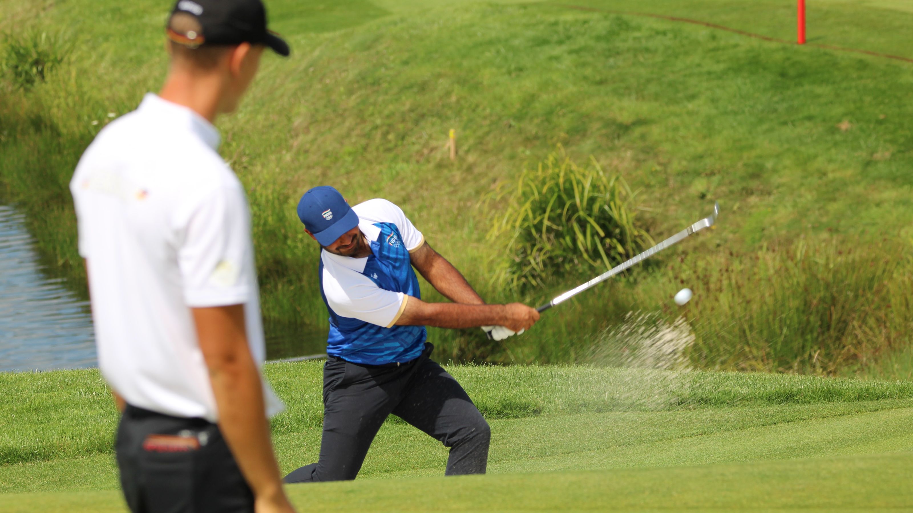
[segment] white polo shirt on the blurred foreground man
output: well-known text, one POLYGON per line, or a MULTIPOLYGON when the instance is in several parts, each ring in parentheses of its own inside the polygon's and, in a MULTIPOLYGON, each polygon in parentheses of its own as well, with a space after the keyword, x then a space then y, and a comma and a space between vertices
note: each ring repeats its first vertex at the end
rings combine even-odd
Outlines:
POLYGON ((100 131, 70 182, 101 373, 127 403, 211 422, 191 309, 243 303, 250 350, 266 356, 247 199, 218 144, 209 121, 147 94, 100 131))

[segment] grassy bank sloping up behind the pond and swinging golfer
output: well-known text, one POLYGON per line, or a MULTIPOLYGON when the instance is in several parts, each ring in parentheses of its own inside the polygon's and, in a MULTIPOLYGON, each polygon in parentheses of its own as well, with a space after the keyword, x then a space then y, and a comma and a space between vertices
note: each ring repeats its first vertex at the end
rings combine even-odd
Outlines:
MULTIPOLYGON (((673 16, 687 10, 689 17, 768 35, 792 30, 792 22, 779 21, 790 2, 636 4, 673 16)), ((879 3, 877 9, 895 9, 883 16, 871 2, 834 1, 816 7, 822 17, 810 16, 815 30, 830 37, 822 42, 898 53, 905 48, 897 39, 902 31, 889 27, 911 15, 897 5, 879 3), (861 21, 846 25, 848 17, 861 21)), ((46 83, 27 92, 8 80, 0 86, 0 182, 5 197, 29 215, 47 263, 79 289, 65 184, 108 113, 131 110, 159 86, 163 6, 145 0, 129 10, 108 2, 40 7, 3 5, 0 28, 67 30, 79 44, 46 83), (88 21, 100 17, 118 23, 88 21)), ((251 98, 226 119, 222 147, 254 211, 270 326, 298 330, 326 322, 313 293, 317 248, 301 233, 293 208, 300 192, 320 183, 338 186, 353 201, 384 196, 403 205, 483 296, 512 298, 490 281, 501 248, 484 237, 496 212, 479 209, 479 198, 560 142, 576 160, 592 154, 641 190, 634 206, 655 238, 706 215, 718 197, 725 216, 720 229, 661 257, 649 274, 550 312, 512 344, 490 345, 475 331, 432 330, 445 359, 578 361, 593 333, 628 311, 662 309, 683 286, 702 288, 687 315, 698 337, 692 361, 703 367, 834 373, 908 345, 899 321, 872 324, 883 311, 859 319, 850 315, 857 303, 836 298, 831 304, 849 312, 848 320, 819 343, 814 337, 831 330, 833 319, 822 317, 821 301, 777 297, 773 277, 796 266, 769 255, 771 247, 793 251, 788 243, 803 235, 837 237, 834 251, 851 242, 868 246, 876 231, 889 238, 878 255, 907 250, 899 241, 909 238, 913 211, 908 65, 553 5, 436 2, 409 10, 382 2, 276 1, 270 7, 295 53, 267 59, 251 98), (456 162, 444 150, 450 128, 458 134, 456 162), (686 254, 704 259, 682 260, 686 254), (767 274, 756 264, 765 258, 773 258, 767 274), (743 269, 745 276, 729 278, 724 268, 743 269), (717 324, 698 322, 714 316, 717 324), (746 320, 729 329, 719 319, 746 320), (868 346, 859 343, 868 337, 874 337, 868 346)), ((808 258, 831 258, 829 249, 822 251, 808 258)), ((824 276, 834 267, 813 267, 798 265, 804 274, 791 278, 790 287, 817 279, 823 290, 854 278, 824 276)), ((888 270, 859 274, 851 288, 864 290, 888 270)), ((561 287, 550 284, 528 299, 561 287)), ((906 312, 895 311, 897 319, 906 312)))

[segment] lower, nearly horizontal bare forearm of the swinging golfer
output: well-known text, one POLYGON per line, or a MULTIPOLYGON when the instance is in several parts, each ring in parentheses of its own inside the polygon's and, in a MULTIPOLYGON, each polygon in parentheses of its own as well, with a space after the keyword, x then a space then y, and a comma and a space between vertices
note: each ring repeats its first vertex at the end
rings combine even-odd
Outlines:
POLYGON ((478 328, 503 324, 507 318, 504 305, 463 305, 459 303, 425 303, 408 298, 400 326, 435 326, 436 328, 478 328))

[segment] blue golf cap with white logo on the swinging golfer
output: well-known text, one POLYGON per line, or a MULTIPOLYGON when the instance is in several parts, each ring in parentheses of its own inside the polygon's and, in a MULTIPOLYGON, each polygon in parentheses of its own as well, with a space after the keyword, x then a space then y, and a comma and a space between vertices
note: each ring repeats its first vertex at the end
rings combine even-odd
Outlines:
POLYGON ((314 187, 301 196, 298 218, 320 246, 330 246, 358 225, 358 215, 330 185, 314 187))

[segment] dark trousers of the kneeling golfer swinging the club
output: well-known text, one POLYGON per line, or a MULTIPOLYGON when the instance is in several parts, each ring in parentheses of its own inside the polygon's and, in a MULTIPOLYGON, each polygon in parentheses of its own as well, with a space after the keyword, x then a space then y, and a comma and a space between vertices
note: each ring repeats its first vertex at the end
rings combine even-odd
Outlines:
POLYGON ((400 366, 368 366, 339 358, 323 367, 320 460, 286 483, 354 479, 389 414, 450 447, 446 475, 484 474, 491 431, 463 387, 428 356, 400 366))

